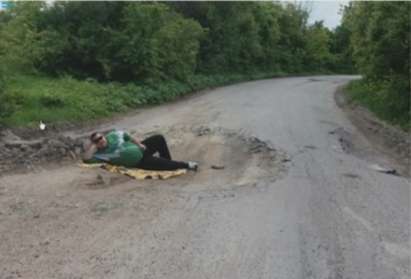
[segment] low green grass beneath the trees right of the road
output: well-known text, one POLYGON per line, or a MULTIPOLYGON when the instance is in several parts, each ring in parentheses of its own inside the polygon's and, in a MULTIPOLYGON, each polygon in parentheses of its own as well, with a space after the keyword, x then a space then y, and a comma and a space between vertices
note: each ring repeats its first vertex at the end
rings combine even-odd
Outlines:
POLYGON ((380 119, 410 131, 410 90, 406 82, 355 80, 345 87, 345 92, 350 101, 368 108, 380 119))

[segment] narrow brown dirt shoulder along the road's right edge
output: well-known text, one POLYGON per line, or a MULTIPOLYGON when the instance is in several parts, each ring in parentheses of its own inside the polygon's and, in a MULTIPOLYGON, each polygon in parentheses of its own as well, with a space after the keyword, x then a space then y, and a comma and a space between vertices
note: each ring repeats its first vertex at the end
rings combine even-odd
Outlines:
MULTIPOLYGON (((368 109, 349 102, 344 95, 344 88, 335 93, 337 105, 342 108, 351 122, 362 132, 376 149, 395 161, 400 173, 410 176, 411 137, 410 134, 378 119, 368 109)), ((345 141, 342 137, 344 146, 345 141)), ((347 146, 352 149, 352 146, 347 146)))

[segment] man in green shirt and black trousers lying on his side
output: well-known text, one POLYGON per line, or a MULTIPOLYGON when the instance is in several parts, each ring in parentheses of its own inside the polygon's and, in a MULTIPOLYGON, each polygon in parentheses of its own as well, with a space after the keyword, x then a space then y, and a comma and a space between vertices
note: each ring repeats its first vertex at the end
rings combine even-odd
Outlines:
POLYGON ((124 131, 111 131, 107 135, 94 132, 85 148, 84 163, 106 162, 112 165, 145 170, 189 169, 196 171, 196 162, 171 159, 167 142, 162 135, 154 135, 140 142, 124 131), (154 156, 155 153, 158 157, 154 156))

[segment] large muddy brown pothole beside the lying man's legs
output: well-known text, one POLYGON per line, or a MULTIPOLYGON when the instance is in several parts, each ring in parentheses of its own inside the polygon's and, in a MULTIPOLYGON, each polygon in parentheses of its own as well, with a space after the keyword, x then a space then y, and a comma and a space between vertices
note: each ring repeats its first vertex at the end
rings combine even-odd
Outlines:
POLYGON ((179 183, 195 183, 196 189, 231 189, 274 181, 287 169, 285 152, 255 136, 221 127, 175 126, 164 132, 176 160, 195 160, 199 171, 179 183), (215 186, 213 186, 215 185, 215 186))

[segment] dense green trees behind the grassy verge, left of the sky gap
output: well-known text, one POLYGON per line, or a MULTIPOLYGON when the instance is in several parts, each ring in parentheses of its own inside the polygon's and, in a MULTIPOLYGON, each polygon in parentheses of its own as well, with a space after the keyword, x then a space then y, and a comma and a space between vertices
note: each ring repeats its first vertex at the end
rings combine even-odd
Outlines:
POLYGON ((316 72, 334 55, 333 33, 293 4, 18 2, 0 17, 8 63, 104 81, 316 72))

